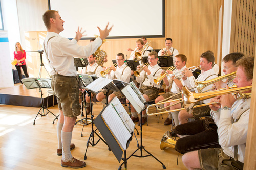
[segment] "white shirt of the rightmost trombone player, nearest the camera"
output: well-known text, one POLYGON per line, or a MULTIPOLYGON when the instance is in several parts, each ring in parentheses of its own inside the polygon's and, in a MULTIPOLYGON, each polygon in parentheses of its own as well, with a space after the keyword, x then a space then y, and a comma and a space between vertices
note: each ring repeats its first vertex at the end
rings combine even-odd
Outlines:
POLYGON ((238 160, 242 163, 245 157, 250 103, 251 99, 246 99, 245 102, 239 100, 232 105, 231 110, 212 112, 214 122, 218 126, 219 144, 223 152, 234 158, 234 146, 238 145, 238 160), (233 121, 238 118, 237 122, 233 121))

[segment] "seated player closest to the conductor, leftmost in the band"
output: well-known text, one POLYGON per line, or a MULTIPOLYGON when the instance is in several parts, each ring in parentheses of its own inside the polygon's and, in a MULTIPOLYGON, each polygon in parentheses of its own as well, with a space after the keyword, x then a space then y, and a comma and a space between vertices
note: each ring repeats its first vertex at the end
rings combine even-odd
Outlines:
MULTIPOLYGON (((100 72, 103 70, 103 68, 95 62, 95 55, 92 54, 91 56, 87 57, 87 61, 88 61, 88 65, 82 69, 81 74, 96 75, 98 77, 101 77, 100 72)), ((93 96, 94 94, 91 94, 92 98, 93 96)), ((86 114, 90 114, 90 113, 91 113, 90 98, 89 98, 89 95, 86 94, 86 114)))

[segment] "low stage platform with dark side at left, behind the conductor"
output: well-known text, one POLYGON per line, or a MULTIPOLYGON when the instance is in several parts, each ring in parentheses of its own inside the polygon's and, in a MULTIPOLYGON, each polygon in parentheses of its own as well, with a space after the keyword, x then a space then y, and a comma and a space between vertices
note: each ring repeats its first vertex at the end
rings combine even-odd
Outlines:
MULTIPOLYGON (((48 90, 42 88, 42 99, 44 105, 47 105, 48 90)), ((28 107, 41 107, 41 93, 39 89, 28 90, 25 85, 15 85, 0 90, 0 104, 16 105, 16 106, 28 106, 28 107)), ((54 104, 57 104, 56 97, 54 96, 54 104)), ((49 94, 48 107, 53 106, 53 96, 49 94)))

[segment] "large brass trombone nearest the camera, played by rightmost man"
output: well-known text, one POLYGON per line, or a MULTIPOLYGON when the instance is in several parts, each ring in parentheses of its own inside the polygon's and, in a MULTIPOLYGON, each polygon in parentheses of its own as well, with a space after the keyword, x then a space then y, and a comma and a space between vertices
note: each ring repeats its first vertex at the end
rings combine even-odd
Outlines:
MULTIPOLYGON (((193 93, 191 91, 189 91, 189 89, 186 86, 182 87, 182 98, 180 99, 175 99, 173 101, 178 101, 177 103, 183 103, 184 108, 180 108, 180 109, 174 109, 174 110, 168 110, 168 111, 164 111, 164 112, 158 112, 158 113, 149 113, 148 109, 150 107, 159 105, 159 104, 163 104, 163 103, 167 103, 167 102, 173 102, 173 101, 165 101, 162 103, 157 103, 157 104, 153 104, 153 105, 148 105, 147 109, 146 109, 146 113, 148 116, 152 116, 152 115, 157 115, 157 114, 164 114, 164 113, 169 113, 169 112, 174 112, 174 111, 180 111, 180 110, 186 110, 189 114, 191 114, 193 112, 193 108, 197 108, 197 107, 202 107, 202 106, 207 106, 207 105, 212 105, 212 104, 217 104, 218 102, 212 102, 212 103, 206 103, 206 104, 200 104, 200 105, 196 105, 196 103, 206 100, 206 99, 210 99, 210 98, 214 98, 215 96, 218 95, 225 95, 225 94, 230 94, 230 93, 238 93, 237 94, 237 99, 236 100, 241 100, 241 99, 245 99, 245 98, 250 98, 251 94, 250 93, 245 93, 243 94, 243 91, 248 91, 251 90, 252 86, 246 86, 246 87, 239 87, 239 88, 232 88, 232 89, 221 89, 221 90, 215 90, 215 91, 210 91, 210 92, 206 92, 206 93, 193 93)), ((175 103, 175 104, 177 104, 175 103)))

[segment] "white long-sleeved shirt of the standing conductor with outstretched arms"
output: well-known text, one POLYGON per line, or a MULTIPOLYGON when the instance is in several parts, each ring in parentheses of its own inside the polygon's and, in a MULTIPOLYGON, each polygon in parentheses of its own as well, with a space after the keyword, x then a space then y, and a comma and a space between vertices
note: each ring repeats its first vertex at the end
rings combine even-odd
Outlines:
POLYGON ((76 76, 77 72, 73 56, 89 57, 102 44, 102 40, 100 38, 96 38, 95 41, 88 44, 87 46, 78 45, 76 44, 76 42, 77 41, 75 39, 69 40, 67 38, 61 37, 57 33, 47 32, 47 36, 45 38, 44 43, 46 52, 50 60, 49 65, 51 75, 56 74, 56 72, 53 69, 55 68, 55 70, 60 75, 76 76), (53 38, 49 40, 47 45, 47 41, 50 37, 53 38))

